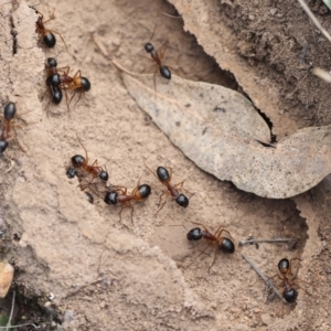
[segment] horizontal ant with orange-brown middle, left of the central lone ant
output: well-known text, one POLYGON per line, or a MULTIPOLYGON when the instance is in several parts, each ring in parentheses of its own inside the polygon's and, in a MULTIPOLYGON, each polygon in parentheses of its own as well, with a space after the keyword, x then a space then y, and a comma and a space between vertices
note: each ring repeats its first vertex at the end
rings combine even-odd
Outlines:
POLYGON ((122 206, 119 211, 119 221, 121 222, 121 212, 126 205, 131 209, 131 222, 134 224, 134 205, 132 201, 143 201, 146 200, 151 193, 151 188, 148 184, 140 185, 139 182, 137 186, 132 190, 131 194, 127 194, 127 188, 125 186, 111 186, 111 190, 108 191, 105 195, 104 201, 107 204, 117 204, 121 203, 122 206))

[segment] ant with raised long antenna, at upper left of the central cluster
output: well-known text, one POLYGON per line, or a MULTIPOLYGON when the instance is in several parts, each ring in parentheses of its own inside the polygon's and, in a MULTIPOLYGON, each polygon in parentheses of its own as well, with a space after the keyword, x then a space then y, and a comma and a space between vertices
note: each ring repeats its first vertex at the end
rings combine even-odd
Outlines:
MULTIPOLYGON (((77 137, 78 138, 78 137, 77 137)), ((84 145, 82 143, 82 141, 79 140, 78 138, 78 141, 81 143, 81 146, 83 147, 83 149, 85 150, 85 158, 82 157, 81 154, 75 154, 72 157, 72 164, 73 164, 73 168, 67 168, 66 170, 66 175, 68 178, 74 178, 75 175, 77 175, 77 171, 75 170, 75 168, 78 168, 78 169, 82 169, 90 174, 93 174, 93 179, 90 181, 90 183, 94 181, 94 179, 96 177, 98 177, 103 182, 107 182, 108 181, 108 172, 105 171, 103 169, 103 167, 100 166, 97 166, 97 160, 95 160, 92 164, 88 164, 88 154, 87 154, 87 150, 86 148, 84 147, 84 145), (74 172, 75 170, 75 172, 74 172), (70 177, 72 175, 72 177, 70 177)), ((84 185, 84 188, 86 188, 88 185, 84 185)), ((83 186, 81 186, 82 189, 83 186)), ((83 191, 83 189, 82 189, 83 191)))

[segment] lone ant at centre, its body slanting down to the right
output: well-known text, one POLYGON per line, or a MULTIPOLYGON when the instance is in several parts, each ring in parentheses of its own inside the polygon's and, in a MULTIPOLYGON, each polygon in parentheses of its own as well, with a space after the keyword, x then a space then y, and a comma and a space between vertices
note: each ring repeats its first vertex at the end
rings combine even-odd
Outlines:
MULTIPOLYGON (((184 209, 189 206, 188 196, 183 193, 180 193, 178 190, 178 188, 183 190, 182 185, 183 185, 184 181, 182 181, 178 184, 174 184, 174 185, 171 184, 171 175, 172 175, 171 168, 170 168, 170 173, 169 173, 169 171, 164 167, 158 167, 157 174, 154 174, 147 166, 146 166, 146 168, 167 188, 167 190, 160 195, 159 204, 161 203, 162 196, 164 194, 167 194, 167 195, 173 196, 174 201, 180 206, 182 206, 184 209)), ((157 211, 156 216, 162 210, 162 207, 164 206, 166 203, 167 203, 167 197, 166 197, 166 201, 163 202, 163 204, 161 205, 161 207, 157 211)))

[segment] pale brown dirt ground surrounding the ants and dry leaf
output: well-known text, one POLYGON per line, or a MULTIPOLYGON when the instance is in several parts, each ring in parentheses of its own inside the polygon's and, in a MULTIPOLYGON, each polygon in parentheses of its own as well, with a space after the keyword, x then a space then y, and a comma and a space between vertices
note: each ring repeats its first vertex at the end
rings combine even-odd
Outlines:
MULTIPOLYGON (((17 128, 26 152, 11 141, 6 156, 15 166, 6 172, 8 160, 0 160, 1 212, 19 238, 17 282, 26 291, 54 293, 67 330, 330 330, 330 180, 293 200, 266 200, 206 174, 137 107, 93 35, 111 58, 137 72, 156 70, 143 58, 143 44, 167 42, 164 63, 175 73, 244 90, 278 137, 330 124, 328 85, 309 68, 311 62, 328 68, 331 45, 297 3, 172 2, 183 21, 160 15, 175 14, 161 1, 41 3, 45 19, 55 9, 47 26, 61 32, 71 54, 60 38, 53 50, 36 44, 36 15, 25 2, 13 11, 11 3, 0 7, 1 104, 15 102, 28 122, 17 128), (182 31, 183 22, 227 72, 182 31), (46 116, 42 96, 50 56, 73 73, 82 70, 92 83, 70 114, 63 100, 46 116), (152 186, 150 199, 135 204, 132 223, 129 209, 120 224, 117 206, 89 204, 77 181, 66 178, 70 158, 84 153, 77 136, 89 160, 106 164, 109 182, 152 186), (162 185, 145 162, 153 170, 171 167, 174 183, 185 180, 184 188, 195 193, 186 210, 169 200, 154 216, 162 185), (293 237, 298 245, 293 250, 286 244, 237 246, 234 255, 220 254, 209 274, 213 250, 199 256, 201 247, 186 241, 192 222, 211 229, 222 224, 236 244, 253 235, 293 237), (267 276, 277 274, 280 258, 302 258, 300 285, 312 296, 299 289, 297 305, 266 303, 264 282, 241 253, 267 276)), ((312 8, 328 29, 328 11, 322 15, 318 2, 312 8)))

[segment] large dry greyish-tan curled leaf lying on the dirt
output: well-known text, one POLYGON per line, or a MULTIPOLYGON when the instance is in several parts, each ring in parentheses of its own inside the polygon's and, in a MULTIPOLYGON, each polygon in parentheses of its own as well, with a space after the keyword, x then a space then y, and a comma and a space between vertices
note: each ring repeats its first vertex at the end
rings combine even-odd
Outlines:
POLYGON ((197 167, 241 190, 290 197, 331 171, 331 127, 306 128, 273 147, 270 131, 250 102, 220 85, 178 76, 122 71, 125 85, 158 127, 197 167), (260 141, 260 142, 259 142, 260 141))

